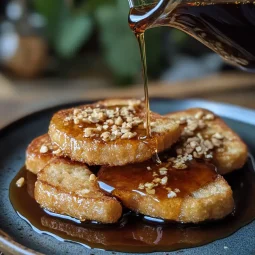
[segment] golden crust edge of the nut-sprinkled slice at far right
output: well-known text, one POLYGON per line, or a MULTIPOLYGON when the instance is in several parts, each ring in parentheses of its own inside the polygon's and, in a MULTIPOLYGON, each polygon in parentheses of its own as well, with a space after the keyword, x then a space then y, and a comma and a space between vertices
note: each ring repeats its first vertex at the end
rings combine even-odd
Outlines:
MULTIPOLYGON (((178 120, 182 117, 194 117, 198 112, 212 114, 211 111, 202 108, 191 108, 185 111, 169 113, 166 116, 178 120)), ((248 149, 242 139, 217 115, 210 121, 206 121, 207 127, 200 130, 202 136, 212 136, 215 133, 222 134, 226 139, 223 150, 214 150, 212 162, 216 165, 219 174, 227 174, 243 167, 248 157, 248 149)), ((185 124, 182 125, 182 128, 185 124)))

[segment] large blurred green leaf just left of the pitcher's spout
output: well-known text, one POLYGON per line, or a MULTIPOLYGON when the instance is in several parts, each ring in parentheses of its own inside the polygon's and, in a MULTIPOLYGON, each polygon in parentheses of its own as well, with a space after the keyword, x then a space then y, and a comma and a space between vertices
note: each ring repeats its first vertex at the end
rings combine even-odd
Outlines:
POLYGON ((128 26, 128 1, 102 6, 95 12, 105 60, 116 77, 134 77, 141 70, 139 48, 128 26))

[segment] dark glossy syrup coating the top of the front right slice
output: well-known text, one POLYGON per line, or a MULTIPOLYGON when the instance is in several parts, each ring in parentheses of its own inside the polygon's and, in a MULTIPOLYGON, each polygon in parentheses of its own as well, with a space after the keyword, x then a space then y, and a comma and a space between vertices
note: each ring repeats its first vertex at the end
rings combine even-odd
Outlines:
POLYGON ((215 167, 209 163, 192 161, 186 169, 175 169, 170 166, 169 162, 162 162, 157 165, 150 160, 140 164, 120 167, 102 167, 98 174, 98 181, 101 187, 104 184, 112 187, 113 194, 114 189, 120 189, 146 196, 148 194, 145 189, 139 189, 139 184, 152 183, 153 180, 164 177, 168 178, 167 183, 165 185, 159 183, 155 187, 155 200, 158 202, 168 198, 168 189, 179 190, 178 197, 184 198, 213 182, 217 178, 217 173, 215 167), (166 171, 166 174, 164 171, 166 171), (163 174, 161 174, 162 172, 163 174))

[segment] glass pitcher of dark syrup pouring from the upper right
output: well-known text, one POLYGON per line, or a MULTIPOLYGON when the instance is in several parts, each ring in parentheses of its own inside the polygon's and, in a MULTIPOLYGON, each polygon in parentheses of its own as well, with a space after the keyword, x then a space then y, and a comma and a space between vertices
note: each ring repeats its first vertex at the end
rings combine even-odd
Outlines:
POLYGON ((136 36, 154 27, 174 27, 227 62, 255 70, 255 2, 129 0, 129 5, 129 25, 136 36))

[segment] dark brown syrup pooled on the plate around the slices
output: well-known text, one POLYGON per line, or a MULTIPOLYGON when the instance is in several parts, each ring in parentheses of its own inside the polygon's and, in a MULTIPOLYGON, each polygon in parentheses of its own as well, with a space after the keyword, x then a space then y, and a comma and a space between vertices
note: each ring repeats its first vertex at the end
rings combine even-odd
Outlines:
POLYGON ((10 200, 20 217, 38 233, 86 247, 122 252, 172 251, 196 247, 221 239, 255 219, 255 169, 251 159, 243 169, 225 176, 232 187, 235 212, 226 218, 202 224, 176 224, 127 213, 117 224, 103 225, 44 211, 33 198, 35 175, 22 168, 10 185, 10 200), (16 181, 25 177, 18 188, 16 181))

